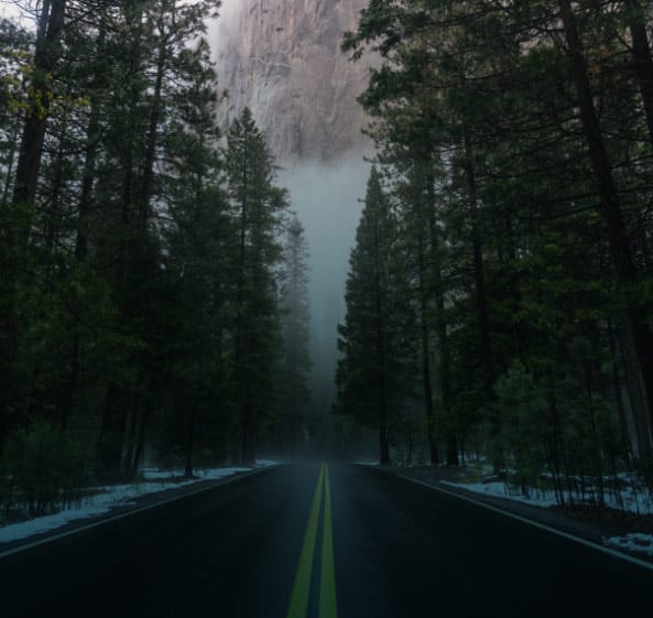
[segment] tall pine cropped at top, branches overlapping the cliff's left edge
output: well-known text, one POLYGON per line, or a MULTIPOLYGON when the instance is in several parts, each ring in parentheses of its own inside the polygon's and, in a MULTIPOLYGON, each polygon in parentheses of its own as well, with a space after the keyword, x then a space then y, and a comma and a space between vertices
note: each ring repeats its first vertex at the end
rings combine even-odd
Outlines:
POLYGON ((97 171, 102 181, 96 194, 97 259, 110 264, 121 327, 132 347, 126 371, 109 381, 99 442, 101 466, 127 476, 138 465, 148 424, 160 408, 155 325, 166 316, 162 314, 165 303, 152 300, 166 292, 157 228, 167 200, 162 171, 167 158, 175 156, 167 151, 172 141, 164 135, 184 107, 193 107, 178 90, 189 87, 203 71, 199 65, 205 58, 189 62, 188 46, 205 32, 205 19, 215 6, 210 1, 124 3, 112 15, 121 28, 105 44, 117 62, 108 74, 106 153, 97 171))

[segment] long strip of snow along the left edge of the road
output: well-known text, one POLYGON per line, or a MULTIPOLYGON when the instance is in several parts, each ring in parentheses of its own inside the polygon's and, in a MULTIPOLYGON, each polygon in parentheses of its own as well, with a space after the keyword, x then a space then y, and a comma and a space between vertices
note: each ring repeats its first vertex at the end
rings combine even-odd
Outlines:
MULTIPOLYGON (((254 467, 272 466, 275 464, 276 462, 265 459, 257 462, 254 467)), ((145 496, 146 494, 177 489, 202 480, 219 479, 251 469, 249 467, 206 469, 196 471, 197 478, 195 479, 175 481, 174 484, 171 484, 170 479, 179 478, 184 474, 182 470, 144 469, 142 473, 144 480, 131 485, 97 487, 95 489, 97 489, 98 494, 84 498, 79 507, 72 507, 51 516, 37 517, 0 527, 0 543, 10 543, 33 536, 34 534, 56 530, 73 521, 108 513, 115 507, 133 506, 135 505, 135 498, 145 496), (168 479, 168 483, 164 483, 163 479, 168 479)))

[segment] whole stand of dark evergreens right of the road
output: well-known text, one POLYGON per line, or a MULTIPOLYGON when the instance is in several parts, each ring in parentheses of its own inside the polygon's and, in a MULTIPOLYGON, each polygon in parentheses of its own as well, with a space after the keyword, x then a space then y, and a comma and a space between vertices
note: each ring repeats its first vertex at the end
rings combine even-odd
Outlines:
POLYGON ((653 487, 647 3, 369 2, 377 145, 338 411, 382 463, 482 455, 527 492, 653 487))

